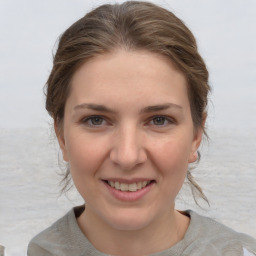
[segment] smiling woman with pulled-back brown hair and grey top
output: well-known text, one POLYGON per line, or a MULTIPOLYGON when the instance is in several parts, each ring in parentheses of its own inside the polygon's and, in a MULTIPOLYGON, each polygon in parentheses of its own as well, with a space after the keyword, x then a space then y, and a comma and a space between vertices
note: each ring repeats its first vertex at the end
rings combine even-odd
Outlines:
POLYGON ((68 28, 46 109, 66 179, 86 203, 37 235, 28 255, 255 255, 253 238, 175 209, 186 176, 205 198, 188 168, 209 90, 192 33, 156 5, 102 5, 68 28))

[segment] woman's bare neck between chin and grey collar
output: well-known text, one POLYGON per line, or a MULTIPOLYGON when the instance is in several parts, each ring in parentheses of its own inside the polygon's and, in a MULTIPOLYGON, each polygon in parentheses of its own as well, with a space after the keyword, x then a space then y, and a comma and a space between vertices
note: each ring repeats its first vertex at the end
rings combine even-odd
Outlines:
POLYGON ((148 255, 163 251, 185 235, 189 218, 170 209, 149 226, 139 230, 118 230, 86 209, 78 225, 93 246, 110 255, 148 255))

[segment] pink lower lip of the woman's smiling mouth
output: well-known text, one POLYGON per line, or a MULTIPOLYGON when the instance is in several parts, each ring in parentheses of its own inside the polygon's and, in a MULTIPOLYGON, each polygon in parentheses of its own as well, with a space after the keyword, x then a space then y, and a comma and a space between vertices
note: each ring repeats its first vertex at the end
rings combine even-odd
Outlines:
POLYGON ((155 184, 155 182, 150 183, 146 187, 139 189, 137 191, 131 192, 131 191, 121 191, 117 190, 107 183, 103 182, 107 189, 110 191, 110 193, 118 200, 121 201, 136 201, 144 197, 152 188, 152 186, 155 184))

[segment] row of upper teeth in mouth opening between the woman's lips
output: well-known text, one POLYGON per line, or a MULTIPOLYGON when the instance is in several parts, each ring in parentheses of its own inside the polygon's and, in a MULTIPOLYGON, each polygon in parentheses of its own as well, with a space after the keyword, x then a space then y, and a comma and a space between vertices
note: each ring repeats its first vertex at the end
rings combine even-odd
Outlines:
POLYGON ((136 192, 138 190, 142 190, 143 188, 150 186, 152 183, 155 183, 155 180, 145 180, 140 182, 134 182, 134 183, 123 183, 119 181, 110 181, 110 180, 104 180, 104 182, 119 191, 123 192, 136 192))

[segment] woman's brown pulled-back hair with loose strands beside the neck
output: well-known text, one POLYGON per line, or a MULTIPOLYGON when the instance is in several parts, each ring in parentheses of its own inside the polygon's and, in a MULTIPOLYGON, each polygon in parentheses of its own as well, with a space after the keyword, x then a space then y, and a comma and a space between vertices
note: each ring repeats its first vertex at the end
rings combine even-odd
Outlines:
MULTIPOLYGON (((198 53, 193 34, 170 11, 149 2, 127 1, 99 6, 71 25, 60 37, 45 87, 46 109, 59 132, 73 74, 89 59, 117 49, 148 50, 169 58, 187 79, 194 127, 204 129, 210 86, 208 71, 198 53)), ((63 191, 68 187, 68 177, 69 169, 63 178, 63 191)), ((207 201, 190 170, 187 179, 193 195, 197 191, 207 201)))

